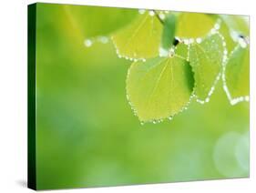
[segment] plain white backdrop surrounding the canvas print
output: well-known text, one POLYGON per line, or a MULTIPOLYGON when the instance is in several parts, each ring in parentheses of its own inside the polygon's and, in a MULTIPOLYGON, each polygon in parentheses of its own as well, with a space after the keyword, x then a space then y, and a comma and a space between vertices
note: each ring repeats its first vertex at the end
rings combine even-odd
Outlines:
MULTIPOLYGON (((36 1, 5 0, 0 5, 0 192, 26 188, 26 5, 36 1)), ((255 192, 256 5, 253 0, 45 0, 48 3, 108 5, 218 14, 251 15, 251 178, 67 189, 56 192, 255 192)))

